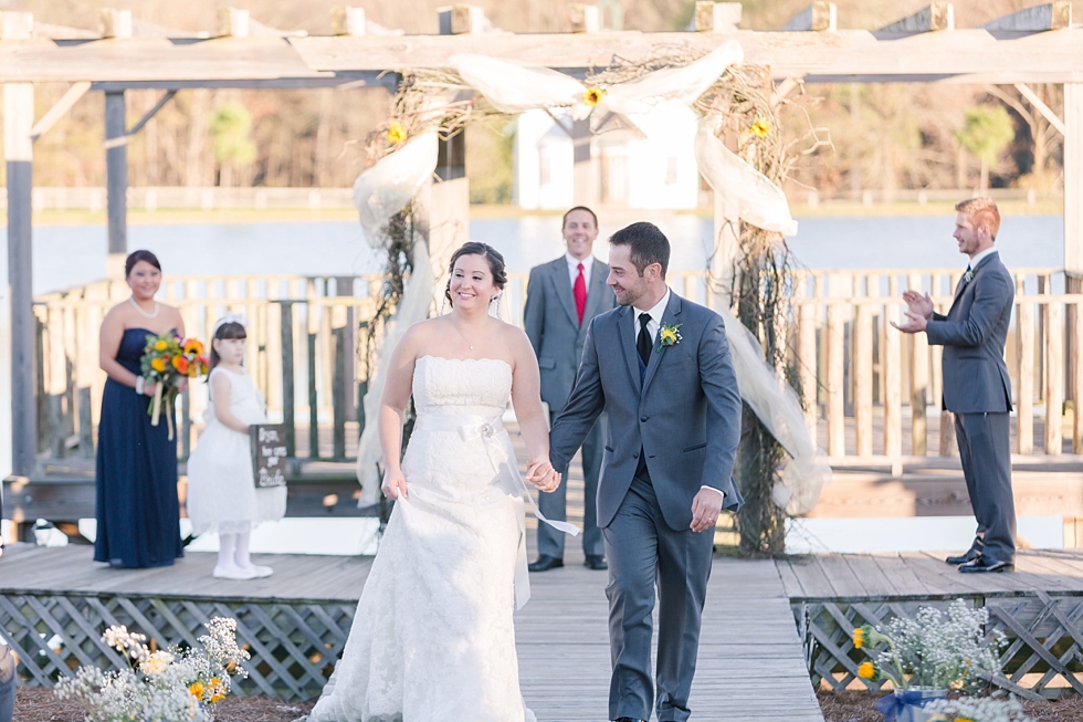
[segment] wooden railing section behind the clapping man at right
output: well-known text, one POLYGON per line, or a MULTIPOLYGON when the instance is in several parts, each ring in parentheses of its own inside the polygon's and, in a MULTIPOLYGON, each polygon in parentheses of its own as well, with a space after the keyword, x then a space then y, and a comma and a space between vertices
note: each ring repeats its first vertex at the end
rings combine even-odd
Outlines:
MULTIPOLYGON (((890 323, 903 317, 906 289, 930 293, 936 310, 946 313, 961 275, 959 269, 798 274, 793 362, 809 426, 819 431, 832 465, 890 465, 897 474, 904 463, 925 463, 923 457, 957 454, 954 419, 940 407, 942 347, 890 323), (933 426, 938 439, 930 448, 933 426)), ((1038 448, 1060 456, 1071 407, 1070 450, 1083 453, 1083 425, 1074 412, 1083 399, 1083 295, 1054 295, 1054 285, 1071 284, 1058 270, 1014 269, 1013 276, 1006 348, 1014 405, 1012 451, 1035 452, 1037 407, 1044 432, 1038 448)))

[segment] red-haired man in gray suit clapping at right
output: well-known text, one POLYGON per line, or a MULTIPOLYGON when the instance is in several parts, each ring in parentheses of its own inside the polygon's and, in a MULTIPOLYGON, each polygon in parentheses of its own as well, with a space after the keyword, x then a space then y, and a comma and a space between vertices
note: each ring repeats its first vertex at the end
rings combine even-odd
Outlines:
POLYGON ((978 529, 970 548, 946 562, 959 572, 1011 571, 1016 562, 1016 504, 1011 494, 1008 414, 1011 381, 1005 342, 1014 300, 1014 282, 993 247, 1000 211, 988 198, 955 207, 955 240, 970 257, 947 315, 934 313, 928 294, 909 290, 904 333, 924 331, 928 343, 944 346, 944 408, 955 414, 963 475, 978 529))

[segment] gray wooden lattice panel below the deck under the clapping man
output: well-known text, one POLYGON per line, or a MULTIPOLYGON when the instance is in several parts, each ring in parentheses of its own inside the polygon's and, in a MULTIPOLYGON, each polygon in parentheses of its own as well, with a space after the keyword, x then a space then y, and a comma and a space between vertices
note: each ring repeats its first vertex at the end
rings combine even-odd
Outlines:
MULTIPOLYGON (((1083 597, 970 598, 975 606, 989 609, 987 638, 1000 631, 1008 639, 1001 655, 1005 676, 990 680, 997 687, 1029 699, 1054 697, 1052 687, 1062 680, 1083 693, 1083 597)), ((892 617, 913 618, 919 607, 946 609, 950 600, 832 603, 793 605, 793 614, 805 639, 805 658, 814 686, 821 680, 843 690, 860 680, 868 689, 881 683, 858 677, 858 666, 866 659, 854 649, 851 634, 862 625, 881 625, 892 617)), ((1060 687, 1060 686, 1058 686, 1060 687)))

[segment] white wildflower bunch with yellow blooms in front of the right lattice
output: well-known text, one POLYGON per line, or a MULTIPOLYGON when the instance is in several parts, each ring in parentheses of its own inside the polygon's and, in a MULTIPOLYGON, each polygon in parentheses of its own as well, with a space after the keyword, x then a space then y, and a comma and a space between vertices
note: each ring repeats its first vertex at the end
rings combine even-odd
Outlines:
POLYGON ((922 607, 914 619, 895 617, 881 629, 853 630, 854 648, 871 658, 858 668, 869 680, 891 680, 895 689, 978 691, 1000 671, 1007 643, 997 631, 986 640, 989 611, 956 599, 947 614, 922 607))

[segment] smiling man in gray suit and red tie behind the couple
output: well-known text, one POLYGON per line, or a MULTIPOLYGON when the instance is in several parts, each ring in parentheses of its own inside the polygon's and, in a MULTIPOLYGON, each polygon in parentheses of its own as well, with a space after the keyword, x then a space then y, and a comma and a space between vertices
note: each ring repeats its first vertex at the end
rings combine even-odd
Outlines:
MULTIPOLYGON (((617 302, 606 286, 609 266, 591 255, 598 238, 598 217, 589 208, 577 206, 564 214, 560 228, 567 252, 560 258, 530 269, 523 325, 534 345, 542 372, 542 400, 549 405, 550 422, 564 409, 576 383, 576 372, 582 358, 587 325, 617 302)), ((583 564, 591 569, 604 569, 606 551, 596 521, 595 503, 598 474, 601 470, 601 422, 587 435, 582 443, 583 490, 583 564)), ((567 469, 560 486, 542 494, 542 513, 547 519, 567 519, 567 469)), ((538 558, 529 565, 532 572, 545 572, 564 566, 564 537, 548 524, 538 526, 538 558)))

